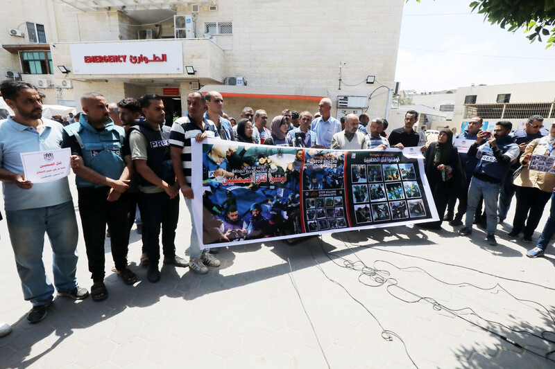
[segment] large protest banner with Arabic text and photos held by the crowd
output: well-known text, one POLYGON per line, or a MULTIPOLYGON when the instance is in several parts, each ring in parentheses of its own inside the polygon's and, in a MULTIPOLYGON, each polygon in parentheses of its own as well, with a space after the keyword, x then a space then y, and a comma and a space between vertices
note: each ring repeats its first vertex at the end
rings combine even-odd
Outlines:
POLYGON ((422 156, 216 138, 192 145, 203 247, 438 220, 422 156))

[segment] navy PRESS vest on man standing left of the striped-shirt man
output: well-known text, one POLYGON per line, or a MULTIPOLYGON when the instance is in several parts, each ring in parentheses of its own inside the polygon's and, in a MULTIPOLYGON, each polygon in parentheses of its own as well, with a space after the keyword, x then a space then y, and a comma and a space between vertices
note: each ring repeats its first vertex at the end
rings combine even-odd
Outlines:
MULTIPOLYGON (((169 146, 169 135, 171 128, 167 125, 162 125, 160 131, 151 127, 144 118, 137 120, 137 125, 129 129, 130 134, 132 129, 137 129, 144 136, 146 140, 146 165, 163 181, 172 185, 176 182, 176 174, 173 172, 171 165, 171 153, 169 146)), ((141 186, 153 186, 153 183, 140 177, 139 182, 141 186)))

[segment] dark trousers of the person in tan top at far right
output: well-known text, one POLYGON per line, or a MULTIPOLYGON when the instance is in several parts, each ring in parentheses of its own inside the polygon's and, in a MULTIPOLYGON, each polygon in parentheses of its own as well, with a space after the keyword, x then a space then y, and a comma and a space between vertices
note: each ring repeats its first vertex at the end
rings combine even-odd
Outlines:
POLYGON ((513 233, 524 231, 524 237, 532 237, 543 215, 543 208, 551 197, 551 192, 539 188, 516 187, 516 208, 513 219, 513 233), (528 219, 527 219, 528 218, 528 219), (524 222, 526 225, 524 226, 524 222))

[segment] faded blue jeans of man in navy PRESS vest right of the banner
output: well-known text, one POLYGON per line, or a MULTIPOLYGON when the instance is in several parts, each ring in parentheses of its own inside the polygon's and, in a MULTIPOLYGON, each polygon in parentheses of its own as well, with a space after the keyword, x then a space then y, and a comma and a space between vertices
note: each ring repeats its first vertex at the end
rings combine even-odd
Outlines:
POLYGON ((481 181, 476 177, 472 177, 470 186, 468 187, 468 205, 466 207, 465 226, 472 227, 474 221, 474 213, 478 207, 480 197, 484 197, 484 206, 486 208, 486 217, 488 218, 488 226, 486 230, 488 235, 493 235, 497 228, 497 199, 499 198, 499 190, 501 183, 491 183, 481 181))

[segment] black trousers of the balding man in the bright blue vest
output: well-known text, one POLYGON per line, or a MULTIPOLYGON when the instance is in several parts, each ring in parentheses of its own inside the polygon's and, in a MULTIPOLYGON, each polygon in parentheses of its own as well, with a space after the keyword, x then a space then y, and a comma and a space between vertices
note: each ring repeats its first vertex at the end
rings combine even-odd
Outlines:
POLYGON ((106 224, 110 228, 110 245, 116 269, 123 271, 127 267, 130 217, 128 195, 124 192, 117 201, 108 201, 109 190, 107 187, 77 189, 79 215, 93 282, 102 282, 105 276, 106 224))

